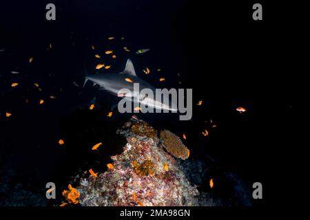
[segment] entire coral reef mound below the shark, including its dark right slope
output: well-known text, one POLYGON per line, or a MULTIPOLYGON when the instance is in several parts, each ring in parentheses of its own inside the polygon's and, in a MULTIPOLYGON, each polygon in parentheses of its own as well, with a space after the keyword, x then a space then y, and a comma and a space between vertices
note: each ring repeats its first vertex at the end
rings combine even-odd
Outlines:
MULTIPOLYGON (((123 151, 102 164, 104 173, 85 171, 63 195, 81 206, 251 206, 251 190, 233 173, 205 156, 186 159, 188 149, 170 131, 161 140, 146 122, 131 119, 116 133, 123 151), (152 135, 138 131, 141 126, 152 135), (134 129, 133 129, 134 128, 134 129), (172 155, 173 154, 173 155, 172 155), (181 159, 177 159, 176 157, 181 159), (210 179, 214 184, 209 185, 210 179), (198 191, 198 189, 200 191, 198 191)), ((64 205, 65 203, 61 204, 64 205)))

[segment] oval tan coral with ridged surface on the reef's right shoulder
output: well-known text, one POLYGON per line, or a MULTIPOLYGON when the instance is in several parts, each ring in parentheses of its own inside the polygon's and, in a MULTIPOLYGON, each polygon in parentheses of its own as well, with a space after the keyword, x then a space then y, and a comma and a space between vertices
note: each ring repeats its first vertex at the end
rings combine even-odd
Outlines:
POLYGON ((161 131, 161 140, 166 150, 180 159, 189 157, 189 149, 181 142, 180 138, 174 133, 164 130, 161 131))

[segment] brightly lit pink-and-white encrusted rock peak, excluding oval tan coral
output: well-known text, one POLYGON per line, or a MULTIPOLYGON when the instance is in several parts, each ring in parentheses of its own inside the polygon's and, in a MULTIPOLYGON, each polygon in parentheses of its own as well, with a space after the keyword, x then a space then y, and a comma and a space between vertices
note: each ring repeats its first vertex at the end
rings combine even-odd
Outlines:
MULTIPOLYGON (((132 132, 141 120, 130 120, 117 132, 127 139, 123 153, 112 156, 113 169, 82 178, 77 187, 82 206, 198 206, 199 192, 158 137, 132 132), (169 167, 169 169, 167 168, 169 167)), ((152 131, 149 127, 147 131, 152 131)), ((140 131, 140 130, 139 130, 140 131)), ((154 132, 152 131, 152 134, 154 132)))

